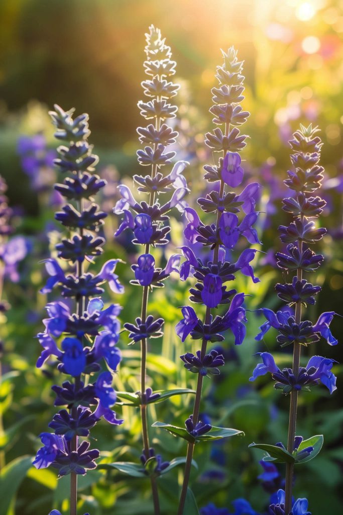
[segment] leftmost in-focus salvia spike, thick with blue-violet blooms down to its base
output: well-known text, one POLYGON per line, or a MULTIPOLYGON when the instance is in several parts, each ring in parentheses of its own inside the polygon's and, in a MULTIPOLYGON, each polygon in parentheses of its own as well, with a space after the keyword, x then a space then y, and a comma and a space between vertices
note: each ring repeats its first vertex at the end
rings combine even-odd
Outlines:
POLYGON ((74 109, 63 111, 55 106, 55 110, 50 112, 56 127, 55 137, 63 142, 55 164, 68 174, 63 184, 56 184, 55 188, 74 204, 65 204, 55 215, 69 229, 69 237, 56 245, 59 259, 46 260, 50 277, 42 293, 49 293, 57 286, 63 297, 74 298, 76 302, 75 313, 61 301, 47 304, 48 318, 43 320, 45 331, 38 335, 43 351, 37 367, 54 356, 54 361, 57 358, 59 362, 59 371, 70 375, 74 381, 52 387, 57 396, 55 405, 67 409, 61 409, 49 423, 55 434, 42 433, 43 447, 33 464, 37 468, 51 465, 58 469, 59 476, 70 474, 70 515, 76 515, 77 475, 94 469, 94 460, 99 457, 99 451, 88 450, 89 443, 80 442, 80 437, 87 437, 101 417, 111 424, 123 422, 111 409, 116 402, 111 372, 101 373, 96 382, 89 382, 87 386, 82 381, 83 374, 98 372, 101 362, 113 371, 120 362, 120 351, 116 348, 120 306, 113 304, 104 309, 99 295, 104 291, 100 285, 105 281, 115 293, 121 293, 123 287, 114 273, 120 260, 107 261, 97 275, 85 269, 86 261, 93 262, 93 256, 102 253, 104 239, 97 233, 106 213, 93 202, 93 196, 105 182, 93 174, 98 156, 92 153, 87 141, 88 115, 73 119, 74 109), (75 263, 75 273, 66 276, 60 260, 75 263), (91 406, 95 407, 93 412, 91 406))

